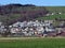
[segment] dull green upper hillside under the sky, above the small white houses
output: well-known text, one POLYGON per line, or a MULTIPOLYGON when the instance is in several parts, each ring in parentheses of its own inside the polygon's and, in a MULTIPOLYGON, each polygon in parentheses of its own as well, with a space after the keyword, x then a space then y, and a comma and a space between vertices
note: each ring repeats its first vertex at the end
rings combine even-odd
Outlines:
POLYGON ((46 9, 53 13, 57 13, 57 12, 65 13, 65 6, 46 6, 46 9))

